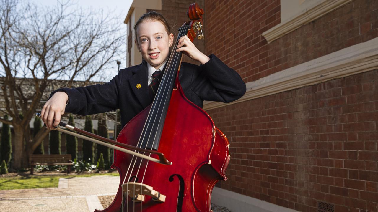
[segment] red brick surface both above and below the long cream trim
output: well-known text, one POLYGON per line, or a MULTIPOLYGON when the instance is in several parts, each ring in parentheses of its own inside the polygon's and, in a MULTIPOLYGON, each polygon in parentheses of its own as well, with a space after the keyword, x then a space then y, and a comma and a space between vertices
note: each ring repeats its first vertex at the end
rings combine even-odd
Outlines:
MULTIPOLYGON (((378 1, 354 0, 268 44, 280 0, 205 1, 206 53, 245 82, 378 36, 378 1)), ((378 209, 378 71, 207 111, 230 141, 218 186, 299 211, 378 209)))

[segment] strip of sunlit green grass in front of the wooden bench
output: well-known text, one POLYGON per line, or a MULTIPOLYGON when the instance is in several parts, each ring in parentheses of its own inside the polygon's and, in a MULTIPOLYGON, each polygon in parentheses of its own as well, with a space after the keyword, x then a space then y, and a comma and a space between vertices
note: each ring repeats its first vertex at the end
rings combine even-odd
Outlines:
POLYGON ((111 173, 95 173, 95 174, 80 174, 80 175, 32 175, 20 177, 2 177, 0 178, 0 190, 12 189, 37 189, 58 187, 59 178, 74 178, 74 177, 91 177, 96 175, 110 175, 119 176, 118 172, 111 173))

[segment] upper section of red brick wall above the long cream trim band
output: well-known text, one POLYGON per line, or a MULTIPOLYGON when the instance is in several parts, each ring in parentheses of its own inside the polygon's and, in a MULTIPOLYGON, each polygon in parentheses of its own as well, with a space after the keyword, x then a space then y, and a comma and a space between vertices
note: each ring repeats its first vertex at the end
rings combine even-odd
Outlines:
POLYGON ((354 0, 268 44, 280 23, 280 0, 205 2, 206 52, 254 81, 378 37, 378 1, 354 0))

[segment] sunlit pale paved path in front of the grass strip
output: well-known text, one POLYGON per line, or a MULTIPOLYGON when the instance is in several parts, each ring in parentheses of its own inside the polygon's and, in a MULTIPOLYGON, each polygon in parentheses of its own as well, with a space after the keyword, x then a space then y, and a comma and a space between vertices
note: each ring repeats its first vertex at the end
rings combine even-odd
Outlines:
POLYGON ((0 190, 2 212, 92 212, 103 209, 98 196, 115 195, 119 177, 60 178, 57 188, 0 190))

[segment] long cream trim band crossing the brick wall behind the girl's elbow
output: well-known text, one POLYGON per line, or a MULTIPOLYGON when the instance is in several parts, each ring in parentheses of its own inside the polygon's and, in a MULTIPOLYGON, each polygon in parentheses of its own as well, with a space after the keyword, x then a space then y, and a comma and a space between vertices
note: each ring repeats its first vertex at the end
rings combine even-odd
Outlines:
POLYGON ((378 37, 248 82, 247 91, 239 100, 228 104, 205 101, 203 109, 219 108, 373 69, 378 69, 378 37))

